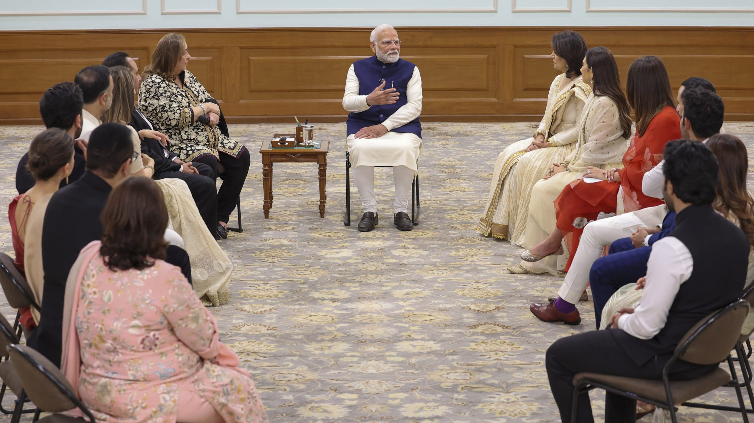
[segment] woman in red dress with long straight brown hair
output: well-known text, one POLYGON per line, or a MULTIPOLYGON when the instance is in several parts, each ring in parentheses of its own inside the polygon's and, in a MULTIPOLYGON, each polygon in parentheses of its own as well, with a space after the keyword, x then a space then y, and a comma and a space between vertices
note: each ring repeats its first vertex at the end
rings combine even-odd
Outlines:
MULTIPOLYGON (((659 57, 634 60, 628 69, 627 97, 636 115, 636 136, 623 157, 624 168, 589 167, 584 179, 566 185, 555 201, 556 229, 540 244, 521 253, 523 260, 536 262, 562 254, 564 238, 573 258, 588 222, 663 203, 642 193, 642 178, 662 160, 665 144, 682 136, 670 81, 659 57)), ((569 259, 566 271, 570 264, 569 259)))

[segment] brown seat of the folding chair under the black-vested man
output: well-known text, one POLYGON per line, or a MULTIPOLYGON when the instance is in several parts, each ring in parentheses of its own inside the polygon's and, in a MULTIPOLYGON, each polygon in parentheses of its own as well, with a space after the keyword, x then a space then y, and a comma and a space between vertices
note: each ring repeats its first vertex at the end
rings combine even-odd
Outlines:
MULTIPOLYGON (((607 385, 611 388, 620 389, 621 391, 632 392, 641 397, 650 400, 667 403, 665 395, 665 385, 662 381, 649 379, 634 379, 623 376, 600 375, 598 373, 578 373, 573 378, 573 385, 578 385, 584 380, 596 382, 601 385, 607 385)), ((730 382, 731 376, 728 372, 720 369, 703 375, 702 377, 690 381, 670 382, 670 392, 673 394, 674 403, 682 403, 692 400, 700 395, 706 394, 713 389, 720 388, 722 385, 730 382)))

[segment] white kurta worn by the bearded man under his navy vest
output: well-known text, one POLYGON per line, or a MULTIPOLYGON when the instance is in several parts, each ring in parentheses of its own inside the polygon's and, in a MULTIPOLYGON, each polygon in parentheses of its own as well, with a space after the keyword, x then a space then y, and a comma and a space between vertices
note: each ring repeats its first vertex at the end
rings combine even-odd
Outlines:
MULTIPOLYGON (((418 171, 416 161, 421 155, 421 138, 413 133, 394 131, 395 128, 401 127, 421 115, 421 75, 419 75, 417 67, 414 68, 406 93, 400 93, 400 95, 405 95, 408 103, 401 106, 393 115, 382 122, 388 128, 385 135, 372 139, 355 139, 354 133, 348 134, 346 148, 348 149, 351 166, 405 166, 413 170, 414 173, 418 171)), ((366 96, 359 95, 359 79, 356 77, 353 65, 348 69, 348 77, 345 81, 343 109, 353 113, 369 109, 369 105, 366 104, 366 96)))

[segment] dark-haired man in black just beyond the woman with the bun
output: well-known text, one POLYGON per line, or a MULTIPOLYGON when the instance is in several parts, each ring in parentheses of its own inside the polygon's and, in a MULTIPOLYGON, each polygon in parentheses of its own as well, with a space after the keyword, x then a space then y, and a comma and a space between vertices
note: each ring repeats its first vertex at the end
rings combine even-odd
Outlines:
MULTIPOLYGON (((61 82, 49 90, 44 91, 39 100, 39 114, 44 126, 58 127, 65 130, 73 139, 81 135, 81 109, 84 108, 84 97, 81 88, 73 82, 61 82)), ((74 147, 73 170, 71 175, 60 181, 60 188, 75 182, 84 174, 84 152, 79 148, 80 142, 74 147)), ((36 181, 26 170, 29 163, 29 152, 24 153, 16 167, 16 190, 19 194, 29 191, 36 181)), ((211 171, 211 170, 210 170, 211 171)))

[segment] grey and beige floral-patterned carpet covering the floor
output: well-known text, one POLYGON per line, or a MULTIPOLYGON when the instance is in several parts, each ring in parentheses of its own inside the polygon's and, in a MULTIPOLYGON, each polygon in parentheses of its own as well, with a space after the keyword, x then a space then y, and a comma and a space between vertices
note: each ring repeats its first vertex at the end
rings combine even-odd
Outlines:
MULTIPOLYGON (((754 124, 725 127, 744 139, 751 158, 754 124)), ((382 219, 366 233, 356 228, 361 210, 354 185, 354 223, 342 222, 345 124, 315 128, 316 138, 331 141, 325 218, 317 211, 316 165, 274 164, 274 205, 264 219, 259 145, 291 129, 231 125, 231 136, 250 149, 252 166, 241 195, 244 232, 219 241, 235 266, 231 300, 210 308, 222 341, 253 374, 270 420, 559 421, 544 353, 560 337, 594 329, 592 304, 579 305, 580 326, 537 320, 529 304, 555 295, 562 277, 509 274, 505 268, 521 249, 475 229, 495 158, 535 124, 424 124, 419 225, 409 232, 392 225, 391 170, 378 169, 382 219)), ((5 204, 16 195, 17 161, 39 130, 0 127, 5 204)), ((0 243, 12 255, 4 210, 0 243)), ((15 312, 3 304, 10 319, 15 312)), ((732 388, 703 399, 735 404, 732 388)), ((593 393, 596 418, 603 407, 604 395, 593 393)), ((680 416, 740 421, 733 412, 684 407, 680 416)))

